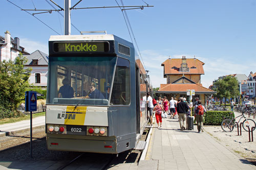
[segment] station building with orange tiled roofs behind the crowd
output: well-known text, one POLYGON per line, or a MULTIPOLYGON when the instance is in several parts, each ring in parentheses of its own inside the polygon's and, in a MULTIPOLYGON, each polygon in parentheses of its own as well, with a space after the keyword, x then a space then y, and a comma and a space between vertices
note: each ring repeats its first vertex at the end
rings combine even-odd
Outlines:
POLYGON ((204 63, 196 58, 188 58, 185 56, 182 59, 169 58, 165 60, 161 66, 164 67, 163 77, 166 78, 166 84, 161 84, 157 95, 167 96, 168 100, 184 97, 189 101, 188 90, 195 90, 193 102, 195 98, 199 98, 203 104, 206 103, 208 96, 217 93, 203 87, 201 84, 201 75, 204 75, 204 63))

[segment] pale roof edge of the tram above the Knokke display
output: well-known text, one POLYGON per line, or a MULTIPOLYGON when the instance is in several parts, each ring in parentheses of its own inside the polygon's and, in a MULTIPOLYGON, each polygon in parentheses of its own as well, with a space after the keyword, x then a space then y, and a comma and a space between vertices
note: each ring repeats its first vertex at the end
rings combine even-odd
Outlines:
POLYGON ((101 35, 52 35, 49 41, 96 41, 96 40, 115 40, 113 34, 101 35))

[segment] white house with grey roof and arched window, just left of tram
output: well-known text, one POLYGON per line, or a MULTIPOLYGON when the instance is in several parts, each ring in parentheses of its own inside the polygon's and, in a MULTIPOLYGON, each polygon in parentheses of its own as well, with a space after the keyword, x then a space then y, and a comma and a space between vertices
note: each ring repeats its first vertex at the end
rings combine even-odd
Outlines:
POLYGON ((28 62, 24 68, 32 67, 29 83, 34 86, 46 88, 48 77, 48 55, 36 50, 27 56, 27 58, 28 62))

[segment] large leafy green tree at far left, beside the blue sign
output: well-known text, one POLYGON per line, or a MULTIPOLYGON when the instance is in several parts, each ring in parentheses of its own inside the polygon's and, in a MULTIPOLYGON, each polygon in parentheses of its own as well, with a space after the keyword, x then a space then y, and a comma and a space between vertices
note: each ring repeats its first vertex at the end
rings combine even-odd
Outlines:
POLYGON ((24 69, 26 62, 27 58, 20 53, 14 61, 0 63, 0 106, 10 111, 17 109, 29 87, 32 68, 24 69))

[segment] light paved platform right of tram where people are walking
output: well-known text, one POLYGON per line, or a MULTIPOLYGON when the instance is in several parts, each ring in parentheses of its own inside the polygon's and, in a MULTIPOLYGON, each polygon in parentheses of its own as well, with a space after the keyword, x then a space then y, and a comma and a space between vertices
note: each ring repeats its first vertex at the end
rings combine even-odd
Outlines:
POLYGON ((197 133, 197 126, 194 131, 180 131, 177 117, 163 119, 161 129, 155 124, 145 160, 139 162, 138 169, 256 169, 207 132, 197 133))

